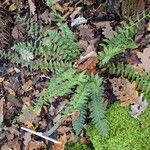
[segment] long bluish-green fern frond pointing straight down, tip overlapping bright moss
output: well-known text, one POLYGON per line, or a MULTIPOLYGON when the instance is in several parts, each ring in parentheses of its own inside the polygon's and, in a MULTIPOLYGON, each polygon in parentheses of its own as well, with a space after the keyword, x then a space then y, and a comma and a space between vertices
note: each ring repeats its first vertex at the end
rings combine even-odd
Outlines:
POLYGON ((92 122, 101 135, 106 136, 107 123, 105 119, 105 105, 103 103, 103 86, 102 79, 95 75, 91 79, 91 103, 89 105, 91 111, 92 122))

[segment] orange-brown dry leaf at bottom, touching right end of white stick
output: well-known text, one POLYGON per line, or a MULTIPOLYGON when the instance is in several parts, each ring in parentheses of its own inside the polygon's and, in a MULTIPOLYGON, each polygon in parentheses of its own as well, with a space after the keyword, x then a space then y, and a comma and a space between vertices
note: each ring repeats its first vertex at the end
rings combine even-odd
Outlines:
POLYGON ((52 146, 52 150, 65 150, 65 144, 67 143, 67 135, 64 133, 58 141, 62 142, 62 144, 54 144, 52 146))

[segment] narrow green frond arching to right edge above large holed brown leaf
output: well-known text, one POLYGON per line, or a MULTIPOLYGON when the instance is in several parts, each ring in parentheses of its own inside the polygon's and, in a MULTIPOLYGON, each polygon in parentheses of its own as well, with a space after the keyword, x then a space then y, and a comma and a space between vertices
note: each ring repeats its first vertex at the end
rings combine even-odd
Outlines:
POLYGON ((111 74, 122 75, 130 81, 135 81, 137 88, 146 96, 150 96, 150 75, 144 71, 133 68, 131 65, 124 65, 123 63, 111 64, 108 66, 108 71, 111 74))

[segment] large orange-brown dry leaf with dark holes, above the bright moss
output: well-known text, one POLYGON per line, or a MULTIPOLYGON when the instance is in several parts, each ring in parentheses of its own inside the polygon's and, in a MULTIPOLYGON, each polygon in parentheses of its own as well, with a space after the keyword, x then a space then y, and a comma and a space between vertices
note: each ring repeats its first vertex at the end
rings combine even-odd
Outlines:
POLYGON ((129 80, 123 77, 109 79, 109 81, 112 84, 113 93, 121 102, 121 106, 128 106, 135 102, 138 92, 134 83, 131 84, 129 80))

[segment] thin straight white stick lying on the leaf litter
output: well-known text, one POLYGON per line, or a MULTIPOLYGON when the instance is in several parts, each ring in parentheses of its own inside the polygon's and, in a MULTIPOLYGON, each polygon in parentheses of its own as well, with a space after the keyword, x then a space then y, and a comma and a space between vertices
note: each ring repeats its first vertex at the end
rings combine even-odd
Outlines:
POLYGON ((54 140, 54 139, 49 138, 49 137, 47 137, 47 136, 44 136, 41 132, 35 132, 35 131, 33 131, 33 130, 30 130, 30 129, 27 129, 27 128, 24 128, 24 127, 21 127, 21 129, 24 130, 24 131, 30 132, 30 133, 32 133, 32 134, 34 134, 34 135, 37 135, 37 136, 39 136, 39 137, 41 137, 41 138, 44 138, 44 139, 46 139, 46 140, 49 140, 49 141, 51 141, 51 142, 53 142, 53 143, 62 144, 62 142, 59 142, 59 141, 57 141, 57 140, 54 140))

